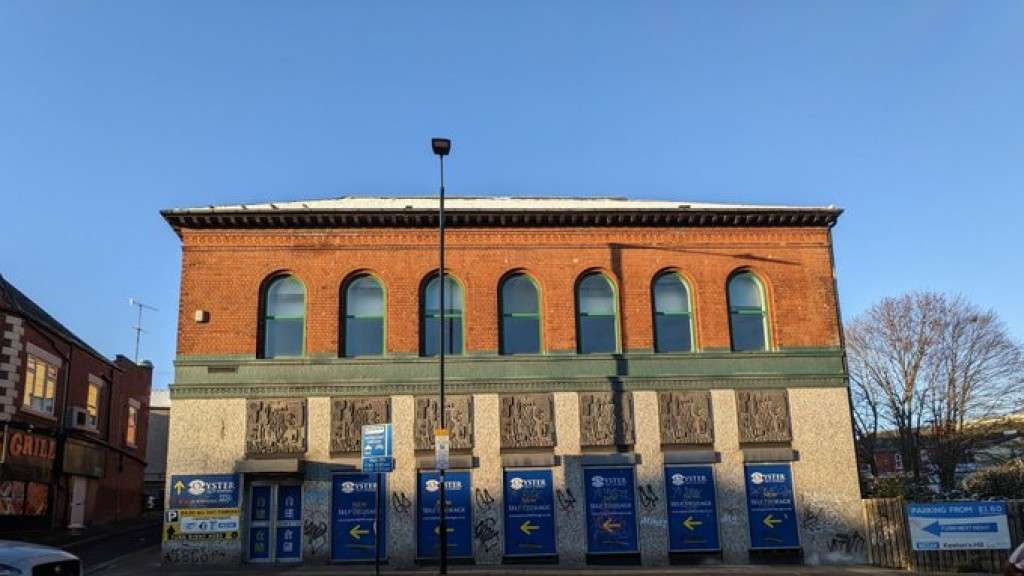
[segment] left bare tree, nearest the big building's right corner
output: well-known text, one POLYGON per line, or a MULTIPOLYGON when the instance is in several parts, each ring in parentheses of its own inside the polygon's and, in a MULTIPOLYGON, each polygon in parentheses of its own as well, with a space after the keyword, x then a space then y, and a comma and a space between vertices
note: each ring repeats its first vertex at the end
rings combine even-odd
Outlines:
MULTIPOLYGON (((915 480, 922 472, 926 362, 940 330, 941 301, 942 296, 931 293, 885 298, 855 318, 846 330, 850 378, 854 389, 862 390, 854 395, 855 401, 873 400, 883 427, 896 434, 904 469, 915 480)), ((859 411, 863 413, 863 406, 859 411)))

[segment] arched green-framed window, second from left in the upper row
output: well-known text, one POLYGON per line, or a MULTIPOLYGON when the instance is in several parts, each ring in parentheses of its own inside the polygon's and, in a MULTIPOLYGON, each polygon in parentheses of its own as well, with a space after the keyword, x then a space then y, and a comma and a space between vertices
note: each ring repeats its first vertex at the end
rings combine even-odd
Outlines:
POLYGON ((384 354, 384 290, 372 276, 358 276, 345 287, 345 356, 384 354))

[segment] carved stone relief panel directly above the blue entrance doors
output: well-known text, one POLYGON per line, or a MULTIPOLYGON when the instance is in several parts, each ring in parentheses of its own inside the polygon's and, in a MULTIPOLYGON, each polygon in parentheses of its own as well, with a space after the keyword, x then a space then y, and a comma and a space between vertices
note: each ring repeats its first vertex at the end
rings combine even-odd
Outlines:
POLYGON ((246 406, 246 454, 294 456, 306 451, 306 401, 250 400, 246 406))

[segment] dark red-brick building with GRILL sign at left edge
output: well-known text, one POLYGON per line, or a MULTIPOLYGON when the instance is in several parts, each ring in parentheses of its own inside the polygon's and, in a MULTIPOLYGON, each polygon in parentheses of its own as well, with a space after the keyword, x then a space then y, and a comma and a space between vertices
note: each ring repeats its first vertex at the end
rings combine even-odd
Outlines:
POLYGON ((0 533, 142 510, 153 368, 111 361, 0 277, 0 533))

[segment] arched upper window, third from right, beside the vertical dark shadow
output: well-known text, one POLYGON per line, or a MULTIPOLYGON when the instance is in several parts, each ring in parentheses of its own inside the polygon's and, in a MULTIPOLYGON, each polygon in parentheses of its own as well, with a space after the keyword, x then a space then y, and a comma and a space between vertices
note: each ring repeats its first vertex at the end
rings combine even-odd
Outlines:
POLYGON ((615 290, 595 272, 577 284, 577 348, 580 354, 618 352, 615 290))

